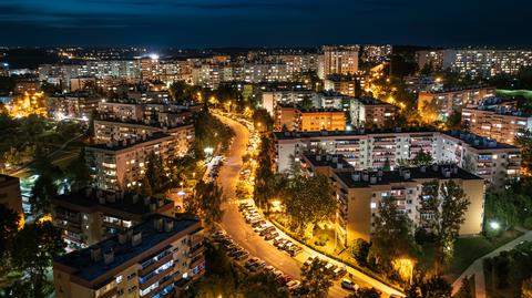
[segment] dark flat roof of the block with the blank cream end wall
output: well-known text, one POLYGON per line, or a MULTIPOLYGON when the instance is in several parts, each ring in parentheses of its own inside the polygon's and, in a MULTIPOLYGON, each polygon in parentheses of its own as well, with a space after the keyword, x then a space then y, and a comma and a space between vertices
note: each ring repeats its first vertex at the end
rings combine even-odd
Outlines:
POLYGON ((409 167, 399 168, 395 171, 351 171, 351 172, 335 172, 344 184, 350 188, 368 187, 370 185, 388 185, 391 183, 413 182, 416 179, 482 179, 481 177, 471 174, 456 165, 430 165, 423 167, 409 167), (434 167, 433 167, 434 166, 434 167), (405 175, 405 172, 409 173, 409 176, 405 175), (444 173, 450 173, 450 176, 446 176, 444 173), (362 175, 367 173, 369 177, 375 177, 375 183, 371 183, 371 178, 364 181, 362 175), (359 175, 359 179, 354 178, 354 174, 359 175))

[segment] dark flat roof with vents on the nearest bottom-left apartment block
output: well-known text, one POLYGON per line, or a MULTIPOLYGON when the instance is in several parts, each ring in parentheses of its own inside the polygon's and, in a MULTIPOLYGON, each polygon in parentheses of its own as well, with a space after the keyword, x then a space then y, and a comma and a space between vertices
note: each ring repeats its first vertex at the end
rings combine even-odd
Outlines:
MULTIPOLYGON (((131 240, 121 244, 119 242, 119 236, 113 236, 103 242, 100 242, 91 247, 85 249, 76 250, 64 256, 61 256, 54 260, 55 264, 68 266, 74 269, 74 276, 84 279, 86 281, 95 280, 96 278, 103 276, 104 274, 114 270, 116 267, 126 264, 129 261, 140 261, 141 259, 135 258, 145 254, 150 248, 168 240, 174 237, 176 234, 198 225, 197 219, 192 218, 172 218, 164 215, 153 215, 142 224, 139 224, 132 227, 130 230, 134 234, 142 233, 142 242, 132 246, 131 240), (155 220, 172 220, 173 227, 170 232, 157 230, 155 228, 155 220), (104 264, 103 256, 101 260, 93 261, 91 258, 91 249, 101 249, 102 255, 105 251, 114 251, 114 260, 110 264, 104 264)), ((197 229, 202 227, 198 225, 197 229)), ((147 255, 145 257, 149 257, 147 255)), ((134 263, 132 263, 134 264, 134 263)))

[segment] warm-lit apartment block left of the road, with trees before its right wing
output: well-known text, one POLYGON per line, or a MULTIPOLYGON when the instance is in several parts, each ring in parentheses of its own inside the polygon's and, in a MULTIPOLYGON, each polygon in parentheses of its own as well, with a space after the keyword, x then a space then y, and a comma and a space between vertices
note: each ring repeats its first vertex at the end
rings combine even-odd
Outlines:
POLYGON ((164 132, 149 132, 120 142, 86 146, 85 160, 98 188, 131 189, 144 177, 152 152, 163 161, 181 157, 188 152, 192 141, 164 132))

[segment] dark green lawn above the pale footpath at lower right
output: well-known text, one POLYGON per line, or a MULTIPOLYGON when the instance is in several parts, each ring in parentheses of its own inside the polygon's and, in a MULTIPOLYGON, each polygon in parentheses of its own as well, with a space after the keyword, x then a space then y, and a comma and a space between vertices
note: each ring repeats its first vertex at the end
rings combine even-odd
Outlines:
MULTIPOLYGON (((446 276, 449 277, 450 280, 456 280, 475 259, 521 235, 522 233, 516 230, 507 230, 502 235, 492 238, 483 236, 458 238, 454 243, 454 257, 446 269, 446 276)), ((430 268, 434 257, 432 245, 423 245, 422 249, 423 256, 420 263, 426 268, 430 268)))

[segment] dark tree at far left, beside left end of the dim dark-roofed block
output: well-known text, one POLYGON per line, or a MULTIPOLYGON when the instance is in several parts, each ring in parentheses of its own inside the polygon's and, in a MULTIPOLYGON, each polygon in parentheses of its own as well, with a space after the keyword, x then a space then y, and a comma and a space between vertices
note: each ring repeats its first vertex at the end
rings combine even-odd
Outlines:
POLYGON ((58 195, 58 186, 48 175, 41 175, 37 178, 33 188, 31 188, 30 204, 31 213, 34 216, 50 213, 50 202, 58 195))

